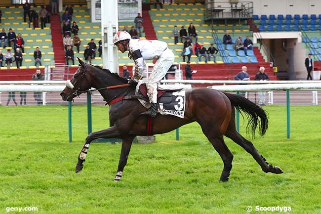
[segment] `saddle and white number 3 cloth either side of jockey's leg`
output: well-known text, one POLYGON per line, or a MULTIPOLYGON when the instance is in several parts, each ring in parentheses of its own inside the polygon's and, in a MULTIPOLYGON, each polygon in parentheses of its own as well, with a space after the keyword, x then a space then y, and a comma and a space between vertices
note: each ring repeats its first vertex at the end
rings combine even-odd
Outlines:
MULTIPOLYGON (((150 107, 147 88, 145 84, 138 85, 136 88, 137 95, 143 95, 145 99, 139 99, 143 106, 150 107), (138 90, 137 90, 138 89, 138 90), (143 102, 142 102, 143 101, 143 102)), ((162 115, 174 115, 184 118, 185 112, 185 90, 157 88, 158 112, 162 115)))

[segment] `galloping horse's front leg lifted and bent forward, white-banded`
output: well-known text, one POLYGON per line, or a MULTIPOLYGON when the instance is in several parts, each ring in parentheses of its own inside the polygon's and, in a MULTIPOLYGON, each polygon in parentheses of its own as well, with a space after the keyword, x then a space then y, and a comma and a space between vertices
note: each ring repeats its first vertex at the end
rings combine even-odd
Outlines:
POLYGON ((85 140, 85 143, 82 146, 80 154, 78 156, 78 163, 76 165, 76 173, 80 172, 83 168, 83 162, 85 161, 89 145, 91 141, 98 139, 98 138, 119 138, 120 133, 116 126, 112 126, 107 129, 103 129, 100 131, 90 133, 85 140))

